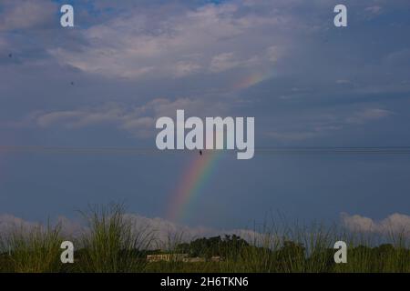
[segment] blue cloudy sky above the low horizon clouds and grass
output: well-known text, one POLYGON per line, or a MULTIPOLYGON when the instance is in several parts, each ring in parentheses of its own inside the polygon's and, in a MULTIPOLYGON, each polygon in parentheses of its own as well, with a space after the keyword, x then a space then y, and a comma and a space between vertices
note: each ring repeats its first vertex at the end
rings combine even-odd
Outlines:
POLYGON ((117 201, 215 229, 272 213, 410 224, 408 154, 222 152, 169 216, 197 152, 5 150, 155 149, 157 118, 177 109, 254 116, 256 148, 410 146, 409 14, 406 0, 2 0, 0 214, 117 201), (61 27, 63 4, 75 27, 61 27), (337 4, 347 27, 333 25, 337 4))

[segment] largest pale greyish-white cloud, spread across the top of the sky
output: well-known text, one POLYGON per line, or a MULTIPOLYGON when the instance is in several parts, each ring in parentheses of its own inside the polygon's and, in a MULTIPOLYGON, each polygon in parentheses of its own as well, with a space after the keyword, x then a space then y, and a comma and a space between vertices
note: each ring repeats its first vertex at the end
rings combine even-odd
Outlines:
POLYGON ((263 67, 263 60, 279 57, 279 36, 272 33, 272 39, 266 41, 254 33, 261 27, 277 25, 278 19, 284 18, 278 14, 253 15, 239 3, 181 7, 178 14, 162 15, 154 23, 151 16, 155 18, 155 14, 149 9, 131 9, 128 15, 78 31, 85 40, 78 49, 55 47, 48 52, 60 63, 90 74, 130 79, 220 73, 237 66, 263 67), (259 38, 261 41, 257 41, 259 38), (226 47, 235 47, 239 56, 227 53, 226 47))

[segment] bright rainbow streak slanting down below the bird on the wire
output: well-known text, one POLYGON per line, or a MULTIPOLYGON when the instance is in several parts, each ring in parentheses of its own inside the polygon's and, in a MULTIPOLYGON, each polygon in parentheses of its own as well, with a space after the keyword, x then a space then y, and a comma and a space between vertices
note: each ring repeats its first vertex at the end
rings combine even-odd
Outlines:
POLYGON ((169 219, 180 222, 188 215, 188 210, 195 197, 210 178, 213 168, 221 156, 220 150, 205 151, 190 163, 179 182, 176 193, 169 204, 169 219))

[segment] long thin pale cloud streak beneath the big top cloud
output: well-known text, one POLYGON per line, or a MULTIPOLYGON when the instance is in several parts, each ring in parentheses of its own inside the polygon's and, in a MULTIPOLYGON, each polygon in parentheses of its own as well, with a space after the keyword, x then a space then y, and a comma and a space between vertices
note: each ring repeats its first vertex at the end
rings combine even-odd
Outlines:
POLYGON ((226 105, 212 102, 207 105, 204 99, 179 98, 169 100, 156 98, 145 105, 126 106, 107 103, 94 107, 81 107, 73 110, 35 112, 24 120, 13 123, 14 126, 36 125, 42 128, 61 126, 76 129, 92 125, 116 125, 136 137, 149 137, 156 131, 155 122, 161 116, 174 118, 178 109, 184 109, 188 115, 207 115, 223 112, 226 105))

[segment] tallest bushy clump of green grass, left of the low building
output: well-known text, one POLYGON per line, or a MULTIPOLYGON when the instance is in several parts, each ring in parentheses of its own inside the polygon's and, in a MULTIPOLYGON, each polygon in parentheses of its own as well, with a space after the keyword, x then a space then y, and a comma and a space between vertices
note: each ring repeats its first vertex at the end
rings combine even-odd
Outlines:
POLYGON ((86 213, 87 231, 79 240, 82 246, 78 269, 82 272, 140 272, 146 266, 141 250, 153 237, 148 229, 137 229, 119 205, 94 206, 86 213))

